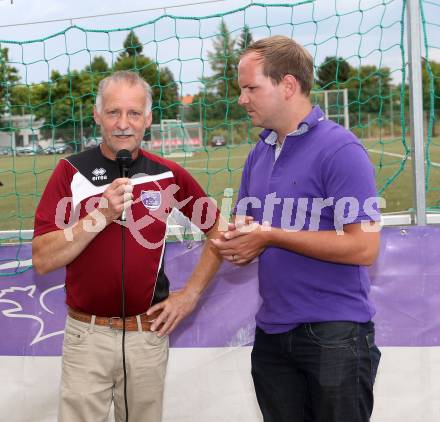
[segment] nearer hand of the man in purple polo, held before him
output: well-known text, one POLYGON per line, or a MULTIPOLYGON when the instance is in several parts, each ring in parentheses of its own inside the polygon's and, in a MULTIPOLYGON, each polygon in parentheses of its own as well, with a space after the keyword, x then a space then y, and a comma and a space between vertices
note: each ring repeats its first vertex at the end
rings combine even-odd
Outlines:
POLYGON ((268 245, 268 223, 260 225, 252 219, 240 224, 237 220, 223 234, 223 239, 212 239, 220 255, 237 265, 245 265, 259 256, 268 245))

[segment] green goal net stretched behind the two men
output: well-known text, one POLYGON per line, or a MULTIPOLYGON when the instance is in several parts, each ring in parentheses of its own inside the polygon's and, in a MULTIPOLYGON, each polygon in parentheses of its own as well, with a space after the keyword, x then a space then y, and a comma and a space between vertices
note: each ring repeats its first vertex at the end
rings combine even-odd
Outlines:
MULTIPOLYGON (((426 189, 428 206, 438 209, 440 6, 421 4, 426 189)), ((135 70, 153 88, 153 126, 143 146, 181 163, 217 200, 225 188, 236 193, 260 131, 237 102, 238 59, 249 42, 275 34, 294 38, 314 57, 314 102, 364 143, 385 211, 408 211, 405 6, 402 0, 252 2, 210 16, 164 14, 109 29, 91 21, 40 39, 0 40, 0 241, 20 242, 32 229, 59 159, 100 142, 93 104, 99 81, 114 70, 135 70)))

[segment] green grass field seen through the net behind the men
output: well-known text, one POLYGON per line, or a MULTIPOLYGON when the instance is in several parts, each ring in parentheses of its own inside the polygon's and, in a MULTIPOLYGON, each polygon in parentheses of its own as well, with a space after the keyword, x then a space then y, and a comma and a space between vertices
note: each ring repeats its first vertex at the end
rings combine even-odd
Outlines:
MULTIPOLYGON (((437 139, 438 141, 438 139, 437 139)), ((385 212, 408 211, 412 207, 412 162, 403 163, 404 148, 400 139, 365 140, 376 167, 378 189, 387 201, 385 212)), ((438 142, 437 142, 438 145, 438 142)), ((191 157, 173 158, 182 164, 206 192, 220 200, 226 187, 237 191, 243 163, 251 144, 206 148, 191 157)), ((428 206, 440 205, 440 148, 430 151, 431 174, 428 206)), ((0 230, 23 230, 33 227, 35 207, 58 160, 63 155, 0 157, 0 230)))

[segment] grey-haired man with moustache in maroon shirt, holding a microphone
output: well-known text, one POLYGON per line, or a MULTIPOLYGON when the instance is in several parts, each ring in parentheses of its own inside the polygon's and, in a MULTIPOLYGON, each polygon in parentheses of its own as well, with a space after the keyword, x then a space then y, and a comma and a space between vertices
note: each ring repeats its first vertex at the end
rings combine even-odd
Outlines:
POLYGON ((137 74, 102 80, 94 109, 102 144, 60 161, 36 211, 36 271, 66 266, 61 422, 104 421, 112 400, 116 420, 124 420, 122 337, 130 420, 161 420, 168 334, 194 309, 221 261, 208 242, 184 289, 169 295, 163 267, 168 214, 179 208, 213 237, 217 210, 183 168, 140 149, 151 105, 151 89, 137 74), (120 177, 116 162, 123 149, 131 162, 127 177, 120 177), (118 220, 124 210, 126 223, 118 220))

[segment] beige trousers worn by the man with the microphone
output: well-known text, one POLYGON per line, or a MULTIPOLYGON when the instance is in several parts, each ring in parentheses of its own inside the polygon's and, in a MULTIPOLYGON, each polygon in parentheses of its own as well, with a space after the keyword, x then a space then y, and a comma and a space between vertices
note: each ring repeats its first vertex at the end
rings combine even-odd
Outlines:
MULTIPOLYGON (((140 321, 138 321, 140 327, 140 321)), ((125 334, 129 422, 160 422, 168 337, 150 331, 125 334)), ((125 421, 122 331, 67 317, 59 422, 125 421)))

